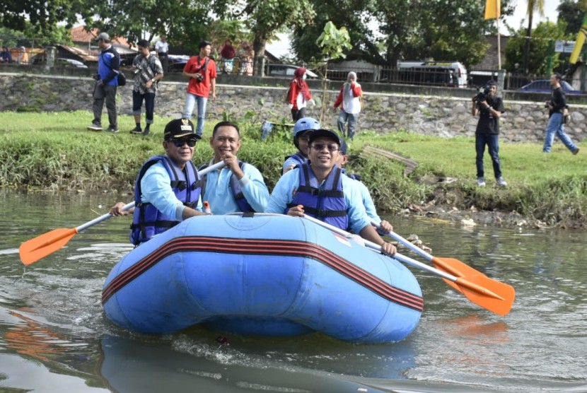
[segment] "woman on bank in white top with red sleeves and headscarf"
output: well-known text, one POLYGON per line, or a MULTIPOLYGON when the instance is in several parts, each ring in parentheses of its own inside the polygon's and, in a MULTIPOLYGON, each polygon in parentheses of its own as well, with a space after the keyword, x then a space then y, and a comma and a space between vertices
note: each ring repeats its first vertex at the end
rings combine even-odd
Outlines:
POLYGON ((356 119, 359 118, 359 112, 361 112, 361 98, 363 98, 363 90, 361 85, 356 83, 356 73, 351 71, 347 75, 347 81, 340 88, 340 93, 338 93, 334 105, 335 111, 341 105, 337 121, 338 131, 342 136, 348 136, 351 141, 354 138, 356 119), (347 122, 348 131, 345 132, 347 122))

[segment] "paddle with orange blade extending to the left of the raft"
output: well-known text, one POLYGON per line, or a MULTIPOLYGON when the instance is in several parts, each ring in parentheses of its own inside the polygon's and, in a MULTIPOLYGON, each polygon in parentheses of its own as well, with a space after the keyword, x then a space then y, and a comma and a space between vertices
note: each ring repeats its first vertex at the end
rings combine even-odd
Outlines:
MULTIPOLYGON (((204 168, 198 172, 199 176, 205 175, 208 172, 217 170, 226 166, 223 161, 210 165, 208 168, 204 168)), ((122 206, 122 210, 129 210, 134 206, 134 202, 130 202, 122 206)), ((44 233, 43 235, 34 237, 33 239, 23 242, 21 247, 18 249, 18 254, 21 255, 21 261, 25 265, 30 265, 37 262, 39 259, 47 257, 47 255, 61 250, 64 245, 83 230, 90 228, 91 226, 106 221, 112 217, 110 213, 106 213, 103 216, 94 218, 92 221, 88 221, 85 224, 79 225, 76 228, 59 228, 54 229, 50 232, 44 233)))

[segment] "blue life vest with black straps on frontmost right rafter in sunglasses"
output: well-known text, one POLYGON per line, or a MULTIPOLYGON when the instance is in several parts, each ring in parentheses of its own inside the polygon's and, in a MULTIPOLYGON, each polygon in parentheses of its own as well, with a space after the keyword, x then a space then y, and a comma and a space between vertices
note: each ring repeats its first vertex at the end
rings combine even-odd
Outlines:
POLYGON ((299 169, 300 186, 284 213, 294 206, 303 205, 303 211, 308 216, 347 230, 349 217, 342 191, 342 170, 335 165, 326 177, 325 187, 320 189, 320 184, 308 163, 304 163, 299 169))

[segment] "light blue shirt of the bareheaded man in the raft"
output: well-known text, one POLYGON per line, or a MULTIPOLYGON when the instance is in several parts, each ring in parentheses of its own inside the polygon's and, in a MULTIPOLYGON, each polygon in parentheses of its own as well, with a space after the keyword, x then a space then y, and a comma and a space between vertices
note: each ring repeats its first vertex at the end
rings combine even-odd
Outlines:
MULTIPOLYGON (((214 160, 210 165, 214 164, 214 160)), ((243 189, 243 195, 250 206, 257 213, 265 211, 269 201, 269 189, 265 185, 261 172, 254 166, 245 163, 243 165, 245 175, 238 180, 243 189)), ((204 191, 204 201, 208 201, 213 214, 227 214, 240 211, 231 189, 232 171, 229 168, 213 170, 209 172, 204 191)))

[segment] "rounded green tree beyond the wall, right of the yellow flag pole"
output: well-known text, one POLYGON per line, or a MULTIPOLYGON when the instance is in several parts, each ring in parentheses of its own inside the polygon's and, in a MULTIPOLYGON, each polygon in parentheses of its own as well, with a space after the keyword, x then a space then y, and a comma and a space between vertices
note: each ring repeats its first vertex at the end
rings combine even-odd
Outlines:
MULTIPOLYGON (((548 59, 553 40, 571 40, 572 35, 564 33, 565 23, 542 22, 532 31, 528 52, 528 73, 537 76, 545 75, 547 72, 548 59)), ((508 40, 506 46, 506 69, 515 71, 516 63, 525 57, 525 45, 527 31, 520 28, 508 40)), ((552 54, 552 68, 557 69, 562 64, 559 53, 552 54)), ((559 70, 562 71, 562 70, 559 70)))

